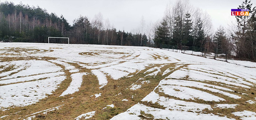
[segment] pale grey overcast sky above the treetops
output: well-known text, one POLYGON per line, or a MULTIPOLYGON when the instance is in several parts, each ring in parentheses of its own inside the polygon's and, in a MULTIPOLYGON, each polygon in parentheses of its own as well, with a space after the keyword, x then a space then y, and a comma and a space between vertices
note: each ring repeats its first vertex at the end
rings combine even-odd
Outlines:
MULTIPOLYGON (((3 1, 3 0, 1 0, 3 1)), ((164 11, 169 0, 7 0, 15 4, 21 1, 30 6, 46 8, 51 13, 63 16, 72 25, 73 20, 82 16, 87 16, 91 20, 95 14, 101 12, 103 18, 108 18, 110 23, 118 30, 131 31, 140 24, 140 19, 144 16, 146 24, 160 20, 164 16, 164 11)), ((175 0, 171 0, 174 2, 175 0)), ((244 0, 190 0, 194 7, 199 7, 202 11, 207 11, 213 23, 213 30, 219 25, 228 27, 231 19, 231 9, 241 5, 244 0)), ((254 6, 256 0, 251 0, 254 6)))

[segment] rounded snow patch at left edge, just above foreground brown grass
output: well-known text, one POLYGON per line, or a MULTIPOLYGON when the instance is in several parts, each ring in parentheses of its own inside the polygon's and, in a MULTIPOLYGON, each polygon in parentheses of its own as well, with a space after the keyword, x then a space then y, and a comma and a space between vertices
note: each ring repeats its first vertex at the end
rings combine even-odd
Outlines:
POLYGON ((0 86, 0 108, 10 106, 27 106, 52 94, 65 76, 43 80, 0 86))

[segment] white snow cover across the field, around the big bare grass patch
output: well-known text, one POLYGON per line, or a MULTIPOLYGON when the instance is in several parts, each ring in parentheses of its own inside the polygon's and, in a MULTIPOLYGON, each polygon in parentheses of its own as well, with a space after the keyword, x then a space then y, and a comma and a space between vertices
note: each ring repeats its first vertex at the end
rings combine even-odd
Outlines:
MULTIPOLYGON (((106 76, 110 76, 114 80, 120 80, 122 77, 134 77, 135 75, 131 76, 131 74, 135 73, 136 76, 140 73, 144 73, 144 76, 152 77, 155 77, 156 75, 167 76, 168 74, 168 77, 161 80, 155 90, 150 91, 151 93, 146 95, 142 100, 159 104, 166 107, 165 109, 151 108, 144 104, 135 104, 126 112, 118 114, 112 119, 142 119, 138 117, 138 115, 140 115, 140 110, 144 111, 146 114, 152 114, 154 119, 228 119, 225 116, 203 114, 204 112, 202 110, 206 108, 212 110, 215 107, 238 107, 231 103, 218 103, 219 101, 225 100, 224 97, 221 98, 220 96, 216 96, 216 94, 240 99, 246 97, 246 94, 242 93, 242 91, 240 92, 242 95, 235 94, 234 91, 236 89, 249 90, 255 88, 256 84, 255 62, 228 60, 228 62, 230 62, 228 63, 149 47, 88 44, 1 43, 0 49, 2 49, 0 53, 11 54, 2 55, 3 57, 14 56, 37 59, 0 62, 1 110, 10 106, 27 106, 47 97, 45 94, 52 94, 52 92, 54 92, 59 84, 66 78, 64 70, 69 70, 72 81, 62 95, 64 96, 79 92, 82 76, 86 73, 77 72, 82 71, 83 68, 87 68, 91 71, 89 73, 95 74, 100 88, 108 84, 106 76), (33 47, 33 49, 38 49, 40 51, 29 50, 27 52, 14 52, 9 51, 8 47, 33 47), (62 49, 52 49, 54 51, 50 52, 49 48, 62 49), (159 55, 160 57, 156 55, 159 55), (43 57, 53 57, 57 59, 47 61, 44 60, 43 57), (157 57, 157 59, 154 57, 157 57), (76 63, 80 65, 81 68, 76 68, 73 64, 69 63, 76 63), (163 70, 165 65, 171 64, 175 64, 175 67, 163 70), (58 65, 62 65, 65 68, 58 65), (5 70, 10 66, 14 67, 10 71, 2 72, 2 70, 5 70), (215 94, 212 94, 212 92, 215 94), (175 100, 164 97, 161 96, 160 93, 180 99, 175 100), (202 99, 204 101, 215 101, 216 103, 214 102, 215 106, 211 107, 209 104, 186 102, 183 101, 183 99, 191 99, 195 101, 202 99)), ((193 54, 201 55, 202 53, 193 52, 193 54)), ((214 54, 207 54, 207 57, 212 57, 213 55, 214 54)), ((138 80, 129 88, 130 90, 135 90, 141 87, 139 85, 150 84, 150 82, 155 81, 138 80)), ((123 89, 125 90, 128 88, 123 89)), ((104 94, 103 91, 101 93, 104 94)), ((97 98, 101 96, 101 93, 94 93, 95 95, 92 96, 97 98)), ((134 95, 135 93, 131 94, 129 97, 133 98, 134 95)), ((126 99, 123 99, 122 101, 125 100, 126 99)), ((251 100, 246 102, 251 103, 254 101, 251 100)), ((54 109, 56 110, 57 108, 49 110, 54 109)), ((47 111, 44 112, 47 113, 47 111)), ((241 112, 241 114, 245 113, 241 112)), ((253 118, 255 117, 253 115, 251 115, 250 118, 255 119, 253 118)), ((246 119, 246 117, 242 115, 241 119, 246 119)))

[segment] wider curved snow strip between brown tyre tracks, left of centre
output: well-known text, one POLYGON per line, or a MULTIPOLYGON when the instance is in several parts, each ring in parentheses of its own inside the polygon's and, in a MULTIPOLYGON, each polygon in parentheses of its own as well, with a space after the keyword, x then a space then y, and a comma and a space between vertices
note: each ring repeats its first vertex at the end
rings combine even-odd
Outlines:
POLYGON ((74 92, 79 91, 79 88, 82 84, 82 76, 86 74, 87 73, 85 72, 71 74, 72 82, 70 83, 68 89, 66 89, 60 96, 73 94, 74 92))

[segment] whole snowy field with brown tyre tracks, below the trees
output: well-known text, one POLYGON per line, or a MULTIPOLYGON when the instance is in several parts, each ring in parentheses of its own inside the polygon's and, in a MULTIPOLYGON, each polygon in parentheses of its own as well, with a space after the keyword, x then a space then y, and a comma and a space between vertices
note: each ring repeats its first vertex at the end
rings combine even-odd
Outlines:
POLYGON ((256 120, 256 63, 228 62, 149 47, 0 43, 0 120, 256 120))

